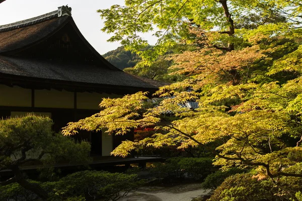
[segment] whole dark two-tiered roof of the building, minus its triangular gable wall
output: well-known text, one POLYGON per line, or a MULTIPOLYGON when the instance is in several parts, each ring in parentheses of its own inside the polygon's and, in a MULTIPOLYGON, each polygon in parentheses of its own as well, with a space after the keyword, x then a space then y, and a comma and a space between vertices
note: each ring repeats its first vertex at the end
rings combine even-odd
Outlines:
POLYGON ((153 89, 153 91, 166 84, 132 76, 110 64, 87 42, 70 16, 61 16, 61 8, 35 18, 0 26, 0 76, 5 79, 17 76, 28 81, 30 78, 36 78, 40 80, 40 83, 48 79, 67 81, 70 84, 84 83, 85 85, 87 83, 97 85, 96 87, 123 86, 123 88, 129 87, 133 90, 144 88, 153 89), (81 64, 74 61, 52 62, 20 57, 20 52, 35 48, 36 44, 50 39, 66 25, 73 29, 70 31, 76 33, 79 40, 85 43, 87 50, 97 58, 94 64, 85 62, 81 64), (14 56, 16 54, 19 57, 14 56))

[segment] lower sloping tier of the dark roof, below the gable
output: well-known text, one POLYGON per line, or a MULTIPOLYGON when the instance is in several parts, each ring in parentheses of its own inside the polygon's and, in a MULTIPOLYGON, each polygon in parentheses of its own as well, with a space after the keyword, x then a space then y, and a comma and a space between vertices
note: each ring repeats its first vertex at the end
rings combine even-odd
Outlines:
POLYGON ((100 85, 106 84, 153 89, 159 87, 158 82, 146 82, 123 71, 110 70, 101 66, 54 63, 39 60, 33 61, 31 59, 6 56, 0 56, 0 73, 100 85))

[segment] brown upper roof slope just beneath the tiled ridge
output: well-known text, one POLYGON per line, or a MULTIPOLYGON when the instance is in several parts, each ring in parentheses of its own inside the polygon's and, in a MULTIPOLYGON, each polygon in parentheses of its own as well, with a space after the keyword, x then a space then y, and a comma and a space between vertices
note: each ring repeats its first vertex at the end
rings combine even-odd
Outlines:
POLYGON ((67 16, 54 18, 34 26, 25 26, 0 32, 0 53, 20 49, 38 42, 57 30, 67 18, 67 16))

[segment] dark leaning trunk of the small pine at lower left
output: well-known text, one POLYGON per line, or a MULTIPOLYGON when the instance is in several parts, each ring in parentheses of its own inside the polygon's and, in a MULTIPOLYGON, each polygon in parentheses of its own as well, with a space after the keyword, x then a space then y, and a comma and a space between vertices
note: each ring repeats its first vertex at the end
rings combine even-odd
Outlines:
POLYGON ((48 198, 48 193, 43 188, 41 188, 39 184, 30 183, 24 179, 18 166, 10 167, 10 169, 14 172, 17 183, 19 183, 23 188, 36 193, 43 200, 46 200, 48 198))

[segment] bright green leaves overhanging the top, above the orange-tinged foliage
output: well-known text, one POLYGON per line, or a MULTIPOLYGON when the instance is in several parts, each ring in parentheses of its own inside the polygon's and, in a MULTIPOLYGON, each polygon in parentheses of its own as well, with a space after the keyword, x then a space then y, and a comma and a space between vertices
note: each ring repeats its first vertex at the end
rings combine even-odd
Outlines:
MULTIPOLYGON (((296 24, 300 22, 301 5, 295 1, 255 0, 247 4, 236 0, 230 2, 229 7, 226 2, 207 0, 200 4, 196 1, 125 0, 125 6, 114 5, 110 9, 98 10, 98 13, 105 19, 102 31, 113 34, 108 41, 121 41, 126 50, 134 51, 142 58, 141 65, 150 65, 150 62, 176 45, 177 41, 187 40, 187 43, 191 43, 192 35, 187 29, 191 25, 205 31, 219 29, 221 31, 217 34, 230 42, 232 37, 228 38, 223 34, 233 35, 234 25, 242 27, 240 24, 246 19, 247 13, 255 14, 247 18, 254 24, 266 25, 282 22, 284 19, 296 24), (152 49, 143 51, 148 43, 139 33, 146 32, 153 33, 158 42, 152 49)), ((216 43, 221 41, 221 38, 216 39, 216 43)))

